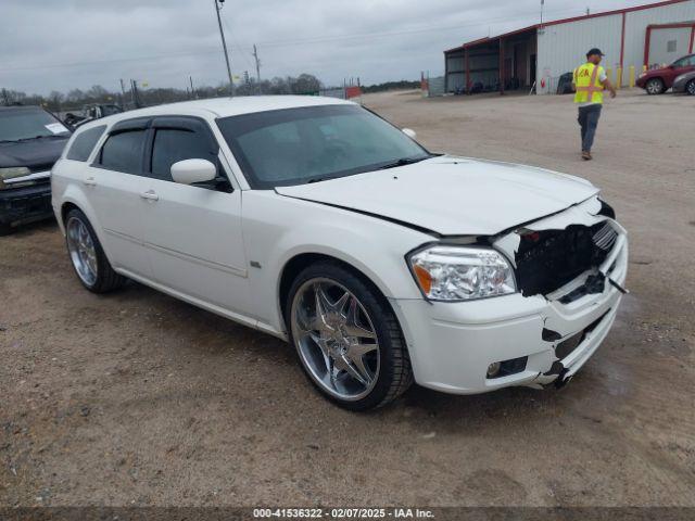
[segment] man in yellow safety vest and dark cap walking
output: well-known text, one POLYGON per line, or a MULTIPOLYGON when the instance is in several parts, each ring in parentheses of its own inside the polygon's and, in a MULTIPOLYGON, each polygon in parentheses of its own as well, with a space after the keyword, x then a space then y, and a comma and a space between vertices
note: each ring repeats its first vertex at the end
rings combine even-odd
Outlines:
POLYGON ((592 49, 586 53, 586 63, 574 69, 573 86, 574 103, 579 103, 579 125, 582 127, 582 158, 590 161, 591 148, 594 144, 594 136, 601 117, 601 109, 604 103, 604 90, 610 91, 610 97, 616 97, 616 88, 612 86, 606 69, 602 67, 601 60, 604 54, 598 49, 592 49))

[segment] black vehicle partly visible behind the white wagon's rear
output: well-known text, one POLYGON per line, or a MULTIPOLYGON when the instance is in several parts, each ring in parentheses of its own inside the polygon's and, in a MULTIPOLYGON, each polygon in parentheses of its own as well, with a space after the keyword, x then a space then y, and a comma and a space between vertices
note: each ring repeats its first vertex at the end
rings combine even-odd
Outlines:
POLYGON ((0 106, 0 236, 53 215, 51 168, 70 136, 39 106, 0 106))

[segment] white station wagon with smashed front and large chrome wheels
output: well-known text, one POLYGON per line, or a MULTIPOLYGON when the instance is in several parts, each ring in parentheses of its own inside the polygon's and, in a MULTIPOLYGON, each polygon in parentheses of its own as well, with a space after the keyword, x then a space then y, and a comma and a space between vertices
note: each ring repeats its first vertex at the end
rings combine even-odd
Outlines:
POLYGON ((88 290, 134 279, 285 339, 343 407, 414 380, 563 385, 624 292, 612 208, 577 177, 414 138, 332 99, 156 106, 80 127, 53 208, 88 290))

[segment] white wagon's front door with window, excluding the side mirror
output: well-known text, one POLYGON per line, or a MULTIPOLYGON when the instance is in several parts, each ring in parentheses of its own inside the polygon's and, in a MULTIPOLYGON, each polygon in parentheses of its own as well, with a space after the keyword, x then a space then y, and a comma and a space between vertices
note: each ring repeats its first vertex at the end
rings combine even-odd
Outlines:
POLYGON ((207 123, 188 116, 155 118, 147 147, 147 189, 155 199, 144 205, 144 241, 154 279, 194 300, 245 315, 241 191, 229 183, 207 123), (215 164, 224 181, 174 182, 172 165, 191 158, 215 164))

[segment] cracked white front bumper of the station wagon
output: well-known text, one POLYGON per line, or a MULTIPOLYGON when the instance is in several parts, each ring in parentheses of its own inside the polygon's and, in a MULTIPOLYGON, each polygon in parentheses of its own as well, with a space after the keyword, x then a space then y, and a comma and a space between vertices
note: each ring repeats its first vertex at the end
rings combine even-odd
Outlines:
MULTIPOLYGON (((628 269, 622 232, 609 274, 620 285, 628 269)), ((447 393, 478 394, 571 378, 608 334, 621 296, 606 281, 602 293, 569 304, 561 304, 559 296, 520 293, 463 303, 394 300, 392 304, 417 383, 447 393), (571 342, 577 345, 568 352, 571 342), (488 378, 491 364, 520 359, 526 365, 517 365, 516 372, 488 378)))

